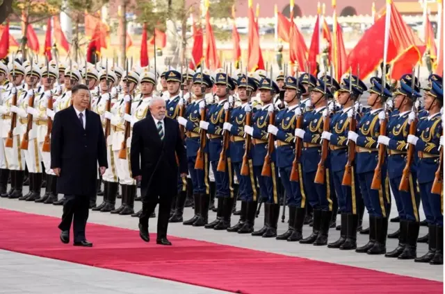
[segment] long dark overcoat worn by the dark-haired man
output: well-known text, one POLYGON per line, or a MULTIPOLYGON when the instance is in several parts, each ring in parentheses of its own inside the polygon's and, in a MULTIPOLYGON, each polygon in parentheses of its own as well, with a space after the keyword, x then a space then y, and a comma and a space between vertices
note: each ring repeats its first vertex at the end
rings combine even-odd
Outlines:
POLYGON ((83 129, 74 107, 54 116, 51 168, 60 168, 57 192, 90 196, 96 193, 97 163, 108 167, 106 142, 99 114, 86 110, 83 129))

